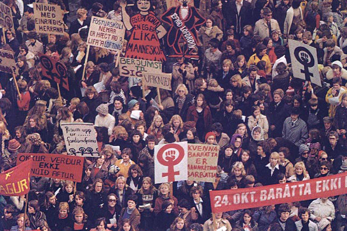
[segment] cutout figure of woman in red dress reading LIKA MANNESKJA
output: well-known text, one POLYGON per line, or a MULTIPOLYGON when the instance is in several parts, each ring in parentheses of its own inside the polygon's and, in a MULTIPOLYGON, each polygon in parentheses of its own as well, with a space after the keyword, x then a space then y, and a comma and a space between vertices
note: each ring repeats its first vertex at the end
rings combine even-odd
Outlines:
POLYGON ((166 35, 166 29, 151 9, 150 0, 137 0, 136 5, 140 11, 132 16, 125 10, 126 1, 120 1, 122 8, 122 20, 125 28, 132 34, 127 45, 125 57, 133 59, 145 59, 152 61, 166 61, 166 57, 160 47, 159 39, 166 35))

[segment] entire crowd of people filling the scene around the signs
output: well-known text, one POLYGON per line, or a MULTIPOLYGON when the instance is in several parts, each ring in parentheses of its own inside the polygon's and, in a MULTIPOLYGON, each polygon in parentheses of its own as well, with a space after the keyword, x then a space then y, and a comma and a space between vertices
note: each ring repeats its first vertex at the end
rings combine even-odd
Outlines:
POLYGON ((1 2, 15 30, 2 28, 0 48, 19 70, 0 73, 1 171, 18 153, 67 154, 66 122, 94 124, 100 157, 84 158, 81 183, 31 176, 28 197, 0 196, 0 230, 347 230, 347 194, 213 216, 209 198, 347 170, 346 1, 86 0, 74 11, 68 0, 40 0, 66 12, 61 35, 36 32, 32 0, 1 2), (194 17, 194 48, 168 38, 179 33, 168 2, 182 21, 194 17), (122 51, 88 48, 92 16, 124 23, 122 51), (141 28, 158 53, 130 50, 146 44, 141 28), (293 76, 288 39, 316 49, 321 87, 293 76), (40 53, 66 66, 69 90, 43 74, 40 53), (122 76, 119 57, 162 61, 172 90, 122 76), (155 184, 154 146, 179 141, 219 145, 214 183, 155 184))

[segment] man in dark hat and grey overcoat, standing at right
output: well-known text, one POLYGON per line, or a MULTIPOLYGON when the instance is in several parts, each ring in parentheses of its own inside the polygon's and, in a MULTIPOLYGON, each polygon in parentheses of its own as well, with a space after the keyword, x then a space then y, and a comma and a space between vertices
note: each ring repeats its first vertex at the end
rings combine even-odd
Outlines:
POLYGON ((296 146, 305 143, 308 138, 307 125, 299 118, 299 109, 293 108, 290 117, 283 124, 282 137, 293 142, 296 146))

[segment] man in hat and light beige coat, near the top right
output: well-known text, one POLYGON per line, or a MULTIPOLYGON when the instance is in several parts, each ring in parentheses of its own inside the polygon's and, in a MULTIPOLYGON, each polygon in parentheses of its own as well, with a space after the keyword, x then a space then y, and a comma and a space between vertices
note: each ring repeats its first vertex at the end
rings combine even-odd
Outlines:
POLYGON ((274 30, 281 34, 281 29, 277 20, 272 18, 271 9, 269 7, 264 7, 262 11, 264 18, 256 21, 254 35, 259 35, 261 39, 264 39, 265 37, 272 38, 272 31, 274 30))

